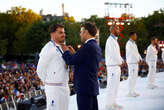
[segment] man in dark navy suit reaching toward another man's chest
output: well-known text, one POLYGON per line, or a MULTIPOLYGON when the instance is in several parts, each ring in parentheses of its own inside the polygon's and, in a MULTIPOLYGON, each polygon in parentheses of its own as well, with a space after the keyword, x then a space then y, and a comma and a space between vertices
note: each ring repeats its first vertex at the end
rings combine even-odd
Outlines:
POLYGON ((95 40, 96 33, 97 28, 94 24, 85 23, 80 32, 83 43, 81 48, 75 53, 71 46, 62 46, 63 59, 66 64, 75 66, 74 85, 78 110, 98 110, 97 73, 101 60, 101 49, 95 40))

